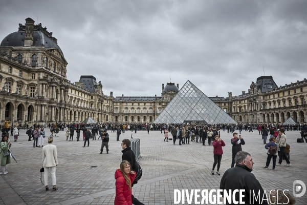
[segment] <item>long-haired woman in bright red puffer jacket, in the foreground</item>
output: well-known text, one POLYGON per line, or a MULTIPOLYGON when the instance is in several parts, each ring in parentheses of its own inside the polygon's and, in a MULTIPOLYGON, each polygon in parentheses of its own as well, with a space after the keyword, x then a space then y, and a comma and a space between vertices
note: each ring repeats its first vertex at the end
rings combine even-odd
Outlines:
POLYGON ((115 171, 115 205, 132 205, 131 183, 136 178, 136 173, 130 171, 130 164, 124 160, 120 163, 120 169, 115 171))

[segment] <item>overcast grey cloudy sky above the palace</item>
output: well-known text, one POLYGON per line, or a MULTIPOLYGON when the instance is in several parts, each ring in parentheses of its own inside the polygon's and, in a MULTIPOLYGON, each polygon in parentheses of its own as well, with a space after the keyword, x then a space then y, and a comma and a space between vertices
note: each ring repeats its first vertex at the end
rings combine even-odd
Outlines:
POLYGON ((190 80, 239 95, 272 75, 307 77, 307 1, 2 1, 0 38, 31 17, 58 39, 68 79, 94 75, 114 96, 161 96, 190 80), (36 20, 38 18, 38 21, 36 20))

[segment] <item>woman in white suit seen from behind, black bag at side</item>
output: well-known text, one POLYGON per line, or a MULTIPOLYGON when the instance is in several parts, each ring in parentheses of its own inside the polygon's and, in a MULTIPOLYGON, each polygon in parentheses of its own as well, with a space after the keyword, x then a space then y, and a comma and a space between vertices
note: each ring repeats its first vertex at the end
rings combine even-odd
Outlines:
POLYGON ((51 171, 52 177, 52 185, 53 190, 58 190, 56 188, 56 179, 55 179, 55 167, 58 165, 57 161, 57 152, 56 146, 52 145, 53 137, 48 137, 48 145, 42 148, 42 167, 45 169, 44 179, 45 179, 45 186, 46 191, 49 190, 48 188, 48 171, 51 171))

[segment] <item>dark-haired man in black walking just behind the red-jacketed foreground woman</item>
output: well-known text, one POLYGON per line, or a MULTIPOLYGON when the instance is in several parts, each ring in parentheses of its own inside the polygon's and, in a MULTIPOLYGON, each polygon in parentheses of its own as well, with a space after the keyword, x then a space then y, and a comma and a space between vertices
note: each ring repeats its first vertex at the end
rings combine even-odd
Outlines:
MULTIPOLYGON (((123 139, 122 141, 122 160, 126 160, 130 163, 130 170, 134 170, 136 168, 136 155, 135 153, 131 150, 130 148, 131 142, 129 139, 123 139)), ((136 181, 134 181, 131 186, 133 187, 133 185, 136 183, 136 181)), ((133 195, 131 195, 131 200, 132 203, 135 205, 143 205, 144 203, 140 202, 137 198, 135 198, 133 195)))

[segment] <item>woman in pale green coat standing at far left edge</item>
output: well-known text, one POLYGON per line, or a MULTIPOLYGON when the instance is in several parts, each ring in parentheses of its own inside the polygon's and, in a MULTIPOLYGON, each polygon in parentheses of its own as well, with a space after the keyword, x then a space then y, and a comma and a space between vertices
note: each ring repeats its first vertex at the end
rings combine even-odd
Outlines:
POLYGON ((0 167, 0 174, 7 174, 6 165, 11 163, 11 152, 10 148, 12 144, 8 141, 7 136, 2 136, 2 140, 0 143, 1 146, 1 167, 0 167))

